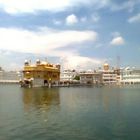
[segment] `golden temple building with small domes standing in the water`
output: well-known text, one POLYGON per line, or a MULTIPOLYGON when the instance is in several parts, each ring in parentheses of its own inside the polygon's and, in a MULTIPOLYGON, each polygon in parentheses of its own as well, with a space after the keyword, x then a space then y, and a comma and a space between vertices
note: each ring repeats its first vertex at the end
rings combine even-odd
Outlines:
POLYGON ((25 61, 23 78, 21 83, 30 86, 57 84, 60 81, 60 65, 41 62, 40 60, 31 65, 28 61, 25 61))

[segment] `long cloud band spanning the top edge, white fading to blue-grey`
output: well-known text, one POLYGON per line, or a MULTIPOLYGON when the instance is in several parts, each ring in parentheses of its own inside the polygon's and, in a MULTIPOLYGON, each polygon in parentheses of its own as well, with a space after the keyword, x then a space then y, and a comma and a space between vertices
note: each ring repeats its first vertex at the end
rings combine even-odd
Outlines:
POLYGON ((37 11, 58 12, 71 7, 92 6, 95 10, 109 8, 112 11, 132 11, 139 0, 117 2, 111 0, 0 0, 0 7, 9 14, 36 13, 37 11))

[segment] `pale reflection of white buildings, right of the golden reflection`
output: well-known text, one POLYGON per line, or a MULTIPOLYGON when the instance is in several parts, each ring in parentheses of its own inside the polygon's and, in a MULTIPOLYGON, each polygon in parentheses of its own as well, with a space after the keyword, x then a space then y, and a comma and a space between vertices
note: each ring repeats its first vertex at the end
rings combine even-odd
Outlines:
MULTIPOLYGON (((123 94, 119 88, 69 88, 60 89, 61 107, 66 110, 79 111, 87 108, 91 111, 100 110, 105 113, 112 111, 113 107, 119 108, 122 104, 123 94)), ((84 110, 87 111, 87 110, 84 110)))

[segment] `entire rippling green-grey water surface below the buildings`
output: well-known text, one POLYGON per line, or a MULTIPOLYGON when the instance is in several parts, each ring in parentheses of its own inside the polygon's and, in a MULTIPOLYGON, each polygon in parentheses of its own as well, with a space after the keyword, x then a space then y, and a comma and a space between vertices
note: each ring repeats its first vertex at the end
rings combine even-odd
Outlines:
POLYGON ((139 91, 0 86, 0 140, 137 140, 139 91))

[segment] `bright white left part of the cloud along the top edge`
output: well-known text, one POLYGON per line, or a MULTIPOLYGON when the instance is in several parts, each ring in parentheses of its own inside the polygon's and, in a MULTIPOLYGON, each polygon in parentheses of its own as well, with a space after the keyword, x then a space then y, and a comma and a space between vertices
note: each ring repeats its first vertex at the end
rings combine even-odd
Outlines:
POLYGON ((34 13, 40 10, 60 11, 69 5, 69 0, 0 0, 1 8, 10 14, 34 13))

